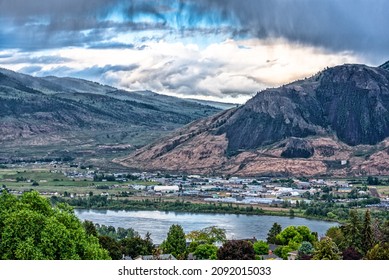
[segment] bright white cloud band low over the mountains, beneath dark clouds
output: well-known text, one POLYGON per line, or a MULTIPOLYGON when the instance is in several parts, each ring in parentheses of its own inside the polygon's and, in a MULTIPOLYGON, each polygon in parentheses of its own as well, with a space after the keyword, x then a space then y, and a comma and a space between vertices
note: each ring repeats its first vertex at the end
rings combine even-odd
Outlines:
MULTIPOLYGON (((59 75, 60 69, 61 76, 76 76, 87 74, 88 69, 96 73, 97 69, 101 74, 94 75, 93 80, 130 91, 151 90, 181 97, 244 102, 257 91, 311 76, 325 67, 368 63, 349 52, 330 53, 282 39, 226 40, 200 46, 201 42, 152 41, 142 48, 66 48, 36 52, 34 66, 40 68, 36 67, 37 71, 32 74, 59 75), (42 63, 39 56, 50 56, 51 63, 42 63)), ((14 53, 13 58, 17 61, 23 55, 14 53)), ((27 63, 4 65, 9 53, 3 56, 0 64, 4 67, 20 70, 31 66, 27 63)))

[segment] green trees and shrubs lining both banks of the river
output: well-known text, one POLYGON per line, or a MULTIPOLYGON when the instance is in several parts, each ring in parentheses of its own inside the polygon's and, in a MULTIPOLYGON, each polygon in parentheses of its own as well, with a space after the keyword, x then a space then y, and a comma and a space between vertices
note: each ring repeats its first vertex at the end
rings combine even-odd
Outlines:
MULTIPOLYGON (((170 254, 179 260, 193 259, 189 258, 189 253, 195 259, 219 260, 389 259, 389 219, 380 221, 373 218, 370 209, 347 209, 347 221, 329 228, 326 236, 320 240, 317 233, 311 232, 307 226, 287 226, 282 229, 274 223, 266 241, 251 241, 227 240, 225 230, 217 226, 185 235, 182 226, 177 224, 170 227, 166 239, 157 246, 153 244, 150 233, 142 238, 131 228, 115 229, 112 226, 98 226, 91 221, 81 222, 74 213, 73 207, 77 206, 74 204, 80 204, 78 208, 88 206, 89 209, 108 209, 115 204, 119 208, 121 204, 129 202, 96 197, 98 199, 94 196, 73 200, 57 197, 47 199, 36 191, 25 192, 20 196, 2 191, 0 259, 138 259, 142 256, 161 259, 162 254, 170 254), (66 200, 73 202, 73 207, 66 200), (189 246, 187 239, 191 240, 189 246), (222 242, 221 247, 215 245, 219 241, 222 242), (270 245, 275 245, 272 253, 270 245)), ((162 205, 162 208, 173 208, 174 211, 190 208, 191 211, 213 210, 215 213, 219 207, 226 213, 266 213, 263 209, 254 210, 252 206, 242 210, 233 205, 183 201, 144 200, 132 201, 131 205, 131 209, 162 205)))

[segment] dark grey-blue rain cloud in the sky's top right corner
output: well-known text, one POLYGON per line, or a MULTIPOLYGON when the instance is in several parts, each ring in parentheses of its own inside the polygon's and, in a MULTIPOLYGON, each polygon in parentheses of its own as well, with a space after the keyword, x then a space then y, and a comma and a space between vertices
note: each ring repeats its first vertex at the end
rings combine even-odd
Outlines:
POLYGON ((236 36, 283 37, 333 51, 386 55, 386 0, 201 0, 204 9, 236 17, 236 36))

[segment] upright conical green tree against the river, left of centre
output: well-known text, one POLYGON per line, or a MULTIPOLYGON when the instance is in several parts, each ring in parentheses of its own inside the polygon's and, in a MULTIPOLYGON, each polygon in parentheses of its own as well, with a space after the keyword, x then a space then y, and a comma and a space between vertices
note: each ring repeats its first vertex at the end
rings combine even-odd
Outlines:
POLYGON ((188 253, 183 228, 180 225, 172 225, 160 247, 165 254, 172 254, 176 259, 186 259, 188 253))

